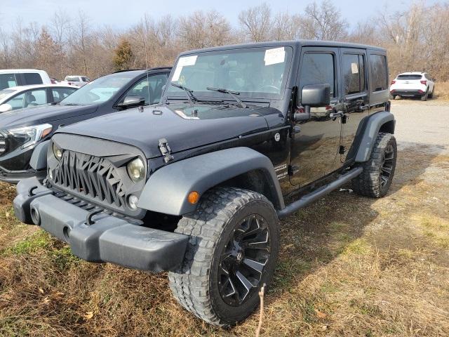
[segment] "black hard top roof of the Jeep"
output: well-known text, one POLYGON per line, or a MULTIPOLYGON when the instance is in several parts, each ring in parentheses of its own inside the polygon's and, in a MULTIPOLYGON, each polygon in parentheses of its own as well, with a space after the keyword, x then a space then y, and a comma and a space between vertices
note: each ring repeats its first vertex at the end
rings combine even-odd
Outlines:
POLYGON ((224 51, 227 49, 236 48, 254 48, 254 47, 276 47, 276 46, 292 46, 293 48, 301 46, 323 46, 323 47, 344 47, 344 48, 359 48, 359 49, 373 49, 376 51, 386 50, 377 46, 369 46, 366 44, 351 44, 349 42, 339 42, 339 41, 316 41, 316 40, 297 40, 297 41, 272 41, 272 42, 257 42, 250 44, 233 44, 229 46, 217 46, 212 48, 196 49, 193 51, 185 51, 180 53, 180 55, 187 55, 192 53, 201 53, 204 51, 224 51))

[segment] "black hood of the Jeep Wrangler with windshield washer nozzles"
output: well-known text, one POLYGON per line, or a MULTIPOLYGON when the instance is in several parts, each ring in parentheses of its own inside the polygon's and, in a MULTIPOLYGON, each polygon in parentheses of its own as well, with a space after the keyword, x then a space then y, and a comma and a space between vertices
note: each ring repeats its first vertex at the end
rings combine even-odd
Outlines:
POLYGON ((133 145, 147 158, 159 157, 159 139, 166 138, 173 153, 267 130, 270 107, 214 104, 170 104, 107 114, 59 128, 72 133, 133 145))

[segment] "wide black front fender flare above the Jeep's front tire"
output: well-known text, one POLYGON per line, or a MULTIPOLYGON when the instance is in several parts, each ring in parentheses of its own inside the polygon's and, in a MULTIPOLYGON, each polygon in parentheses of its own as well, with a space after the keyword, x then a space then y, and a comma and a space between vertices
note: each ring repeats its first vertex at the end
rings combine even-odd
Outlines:
POLYGON ((138 206, 174 216, 195 211, 187 201, 190 192, 200 196, 220 183, 250 171, 262 171, 276 209, 283 209, 283 197, 272 161, 249 147, 233 147, 175 161, 152 173, 140 194, 138 206))

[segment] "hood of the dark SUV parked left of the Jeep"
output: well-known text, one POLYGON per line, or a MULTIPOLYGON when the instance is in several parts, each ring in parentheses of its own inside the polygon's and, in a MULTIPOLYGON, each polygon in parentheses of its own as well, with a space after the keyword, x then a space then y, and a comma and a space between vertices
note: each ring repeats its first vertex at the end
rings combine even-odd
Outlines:
POLYGON ((41 105, 0 114, 0 129, 31 126, 95 112, 98 105, 41 105))

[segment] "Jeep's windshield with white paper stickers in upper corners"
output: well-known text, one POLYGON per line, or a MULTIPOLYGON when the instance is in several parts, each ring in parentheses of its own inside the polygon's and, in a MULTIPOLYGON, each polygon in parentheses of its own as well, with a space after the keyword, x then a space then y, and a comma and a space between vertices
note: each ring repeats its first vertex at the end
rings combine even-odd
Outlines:
POLYGON ((220 88, 234 91, 239 98, 280 98, 293 49, 290 47, 240 48, 210 51, 182 56, 177 60, 168 86, 168 97, 186 93, 179 86, 193 91, 196 98, 226 97, 226 93, 211 91, 220 88))

